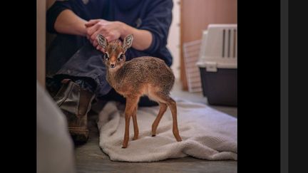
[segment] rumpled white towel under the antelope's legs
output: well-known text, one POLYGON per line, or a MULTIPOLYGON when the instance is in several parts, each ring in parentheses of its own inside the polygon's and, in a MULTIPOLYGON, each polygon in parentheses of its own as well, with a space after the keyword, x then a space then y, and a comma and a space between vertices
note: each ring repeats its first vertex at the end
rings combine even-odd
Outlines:
POLYGON ((154 162, 168 158, 192 156, 200 159, 237 160, 237 119, 207 105, 176 100, 178 128, 182 142, 173 136, 170 109, 158 125, 155 137, 151 127, 159 107, 138 108, 138 140, 133 139, 133 120, 130 118, 130 140, 123 149, 125 105, 109 102, 100 112, 98 129, 100 147, 113 161, 154 162))

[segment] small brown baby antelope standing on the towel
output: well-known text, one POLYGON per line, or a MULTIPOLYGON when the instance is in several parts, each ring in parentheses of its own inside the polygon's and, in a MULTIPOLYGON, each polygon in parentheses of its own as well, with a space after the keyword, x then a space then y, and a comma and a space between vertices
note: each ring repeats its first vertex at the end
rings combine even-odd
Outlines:
POLYGON ((170 108, 173 116, 173 135, 175 139, 182 141, 178 131, 177 106, 175 100, 170 98, 170 90, 175 83, 172 70, 159 58, 143 56, 133 58, 125 62, 125 52, 132 46, 133 35, 126 36, 121 41, 111 41, 101 34, 98 35, 98 43, 105 50, 103 61, 107 68, 106 79, 117 93, 126 98, 125 105, 125 134, 123 148, 128 146, 130 117, 133 117, 134 137, 138 139, 137 106, 141 96, 148 95, 160 105, 160 110, 152 125, 152 136, 161 117, 170 108))

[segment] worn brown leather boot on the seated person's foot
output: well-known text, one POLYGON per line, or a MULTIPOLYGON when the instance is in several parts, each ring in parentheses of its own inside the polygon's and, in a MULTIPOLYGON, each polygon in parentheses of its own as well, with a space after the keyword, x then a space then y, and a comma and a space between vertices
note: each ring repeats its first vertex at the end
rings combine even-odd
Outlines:
POLYGON ((74 142, 83 143, 88 140, 88 111, 91 109, 93 93, 84 90, 72 80, 62 80, 63 85, 53 97, 68 120, 68 130, 74 142))

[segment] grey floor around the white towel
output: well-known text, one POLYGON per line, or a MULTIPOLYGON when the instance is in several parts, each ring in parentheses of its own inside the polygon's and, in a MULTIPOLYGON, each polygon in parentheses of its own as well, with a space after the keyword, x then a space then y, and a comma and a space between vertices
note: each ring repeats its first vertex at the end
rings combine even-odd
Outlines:
MULTIPOLYGON (((173 98, 183 98, 197 103, 207 104, 202 93, 188 93, 181 90, 176 81, 171 93, 173 98)), ((210 106, 233 117, 237 117, 237 108, 210 106)), ((130 163, 113 162, 98 146, 97 114, 92 111, 88 116, 89 140, 76 146, 76 167, 78 172, 237 172, 236 161, 208 161, 193 157, 167 159, 160 162, 130 163)))

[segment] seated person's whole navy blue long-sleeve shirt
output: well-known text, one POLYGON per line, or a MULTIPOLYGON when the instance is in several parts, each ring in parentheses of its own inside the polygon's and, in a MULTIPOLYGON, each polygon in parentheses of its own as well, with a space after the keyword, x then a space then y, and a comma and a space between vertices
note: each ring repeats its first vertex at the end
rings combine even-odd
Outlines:
MULTIPOLYGON (((172 0, 89 0, 87 4, 82 0, 56 1, 47 11, 47 31, 56 33, 54 23, 58 14, 65 9, 71 9, 77 16, 85 19, 106 19, 108 21, 122 21, 134 28, 150 31, 153 41, 145 51, 128 49, 126 59, 140 56, 155 56, 171 65, 173 58, 168 51, 168 31, 172 21, 172 0)), ((88 40, 82 36, 70 36, 75 41, 70 45, 73 50, 81 48, 88 40)))

